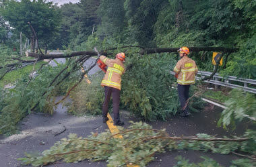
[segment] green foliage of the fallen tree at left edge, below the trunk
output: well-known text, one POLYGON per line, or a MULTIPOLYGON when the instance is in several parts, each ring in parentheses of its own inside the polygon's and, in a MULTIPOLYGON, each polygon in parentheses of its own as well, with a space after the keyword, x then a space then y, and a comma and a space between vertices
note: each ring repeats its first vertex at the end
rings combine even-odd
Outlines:
POLYGON ((64 65, 62 64, 57 67, 44 66, 37 72, 38 76, 31 78, 31 80, 28 72, 21 78, 18 78, 17 82, 15 82, 14 89, 2 92, 3 95, 1 96, 4 98, 0 104, 2 106, 0 113, 0 133, 11 135, 17 132, 17 123, 28 115, 28 113, 31 113, 31 109, 34 107, 34 111, 53 113, 54 99, 52 97, 67 91, 67 88, 72 85, 71 83, 77 79, 77 74, 72 74, 69 76, 70 80, 68 82, 49 87, 52 78, 63 69, 64 65))

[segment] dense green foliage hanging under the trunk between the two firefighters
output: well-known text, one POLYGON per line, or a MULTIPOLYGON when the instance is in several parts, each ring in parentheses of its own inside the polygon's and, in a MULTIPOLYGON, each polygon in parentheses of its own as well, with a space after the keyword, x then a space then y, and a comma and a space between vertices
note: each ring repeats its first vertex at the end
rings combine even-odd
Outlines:
POLYGON ((127 58, 131 68, 123 75, 121 101, 135 115, 144 119, 162 119, 179 111, 176 78, 170 74, 174 67, 171 54, 127 58))

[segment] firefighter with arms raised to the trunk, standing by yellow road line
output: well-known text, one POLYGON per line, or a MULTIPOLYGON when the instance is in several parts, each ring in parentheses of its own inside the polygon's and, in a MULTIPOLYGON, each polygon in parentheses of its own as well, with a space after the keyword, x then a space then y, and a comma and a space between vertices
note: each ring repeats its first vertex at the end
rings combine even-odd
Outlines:
POLYGON ((114 125, 124 125, 123 121, 119 117, 119 103, 121 92, 121 76, 125 72, 125 54, 123 52, 116 55, 115 59, 106 58, 106 56, 100 56, 100 60, 108 66, 106 74, 100 85, 104 87, 105 99, 102 105, 102 117, 103 123, 108 121, 108 103, 112 94, 113 97, 113 113, 114 113, 114 125))

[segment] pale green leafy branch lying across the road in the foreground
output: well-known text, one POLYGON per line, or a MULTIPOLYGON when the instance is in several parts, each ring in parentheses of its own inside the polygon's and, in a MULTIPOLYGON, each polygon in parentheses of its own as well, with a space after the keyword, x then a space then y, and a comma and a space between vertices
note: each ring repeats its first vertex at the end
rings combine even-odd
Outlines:
MULTIPOLYGON (((234 150, 239 150, 241 146, 239 142, 183 141, 182 137, 180 140, 173 140, 171 137, 168 138, 168 134, 164 129, 152 129, 150 125, 141 122, 131 123, 132 125, 129 129, 121 129, 120 133, 123 138, 111 135, 110 131, 100 134, 92 133, 87 138, 70 134, 68 139, 63 138, 61 141, 56 142, 53 147, 45 150, 42 154, 26 154, 26 158, 20 158, 20 160, 24 164, 32 164, 32 166, 42 166, 57 160, 79 162, 85 159, 93 161, 106 160, 109 167, 126 166, 126 164, 146 166, 146 164, 154 160, 154 154, 163 153, 166 149, 212 150, 213 152, 229 154, 234 150), (223 152, 223 149, 226 152, 223 152)), ((203 139, 212 138, 212 136, 206 134, 198 134, 197 136, 203 139)), ((243 144, 245 143, 247 141, 243 142, 243 144)), ((246 150, 243 151, 247 152, 246 150)), ((217 164, 213 160, 207 158, 205 160, 209 165, 212 163, 217 164)))

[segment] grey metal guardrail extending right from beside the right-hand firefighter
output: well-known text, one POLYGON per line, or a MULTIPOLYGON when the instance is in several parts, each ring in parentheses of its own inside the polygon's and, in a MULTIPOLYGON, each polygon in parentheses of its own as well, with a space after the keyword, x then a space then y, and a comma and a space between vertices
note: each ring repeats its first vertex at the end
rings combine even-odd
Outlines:
MULTIPOLYGON (((197 80, 201 80, 202 78, 205 78, 205 76, 210 76, 212 72, 207 71, 199 71, 197 73, 197 76, 195 78, 197 80), (201 75, 200 77, 198 75, 201 75)), ((256 89, 248 87, 248 85, 256 85, 256 80, 253 79, 247 79, 247 78, 237 78, 236 76, 220 76, 218 73, 214 74, 213 79, 211 80, 203 80, 204 82, 211 83, 214 85, 220 85, 222 87, 229 87, 232 89, 243 89, 243 91, 247 91, 250 93, 256 94, 256 89), (231 83, 231 81, 236 82, 243 82, 243 86, 236 85, 234 83, 231 83)))

